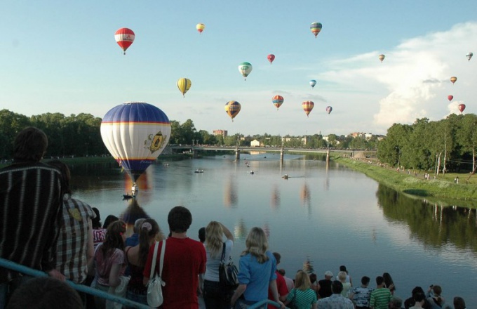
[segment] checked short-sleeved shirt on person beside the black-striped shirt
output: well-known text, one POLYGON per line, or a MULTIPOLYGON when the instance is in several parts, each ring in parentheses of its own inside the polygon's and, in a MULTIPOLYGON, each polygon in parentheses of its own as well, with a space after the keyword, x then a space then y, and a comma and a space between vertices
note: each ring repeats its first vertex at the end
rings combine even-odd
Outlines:
POLYGON ((65 195, 62 209, 56 269, 68 280, 81 283, 87 275, 88 221, 95 218, 96 214, 88 204, 72 199, 69 195, 65 195))

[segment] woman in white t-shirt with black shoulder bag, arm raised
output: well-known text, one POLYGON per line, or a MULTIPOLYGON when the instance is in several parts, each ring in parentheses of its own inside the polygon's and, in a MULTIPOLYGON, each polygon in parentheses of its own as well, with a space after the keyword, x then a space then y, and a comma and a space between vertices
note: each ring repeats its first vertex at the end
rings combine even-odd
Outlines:
POLYGON ((225 246, 224 261, 229 261, 234 235, 222 223, 210 221, 206 227, 206 274, 203 282, 203 300, 206 308, 230 308, 230 298, 234 290, 225 289, 219 284, 219 265, 225 246), (222 242, 225 235, 227 240, 222 242))

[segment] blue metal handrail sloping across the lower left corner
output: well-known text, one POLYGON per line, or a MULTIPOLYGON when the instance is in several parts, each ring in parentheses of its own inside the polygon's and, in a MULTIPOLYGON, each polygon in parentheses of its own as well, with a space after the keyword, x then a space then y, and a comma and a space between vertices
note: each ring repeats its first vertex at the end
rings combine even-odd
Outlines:
MULTIPOLYGON (((15 270, 16 272, 21 272, 22 274, 29 275, 32 277, 48 277, 46 272, 42 272, 40 270, 34 270, 32 268, 28 268, 26 266, 20 265, 18 263, 14 263, 12 261, 8 261, 4 258, 0 258, 0 267, 3 268, 8 268, 11 270, 15 270)), ((114 301, 115 303, 121 303, 123 305, 126 305, 130 308, 137 308, 137 309, 150 309, 151 307, 147 305, 143 305, 142 303, 136 303, 135 301, 130 301, 129 299, 122 298, 119 296, 114 296, 112 294, 109 294, 105 291, 100 291, 98 289, 94 289, 92 287, 87 287, 86 285, 83 284, 76 284, 71 281, 66 281, 67 284, 73 287, 76 291, 81 291, 83 293, 91 294, 93 296, 98 296, 101 298, 105 298, 109 301, 114 301)))

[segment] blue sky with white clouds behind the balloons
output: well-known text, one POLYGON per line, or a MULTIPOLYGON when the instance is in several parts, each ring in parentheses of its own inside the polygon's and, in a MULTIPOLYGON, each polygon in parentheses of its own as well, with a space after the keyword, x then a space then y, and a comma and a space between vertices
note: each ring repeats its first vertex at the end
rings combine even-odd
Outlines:
POLYGON ((459 104, 476 112, 476 13, 473 0, 4 0, 0 110, 102 118, 140 101, 210 133, 385 134, 459 114, 459 104), (317 38, 311 22, 323 25, 317 38), (121 27, 135 32, 126 55, 114 40, 121 27), (244 61, 253 65, 246 80, 244 61), (181 77, 192 81, 185 98, 181 77), (234 121, 230 100, 241 103, 234 121))

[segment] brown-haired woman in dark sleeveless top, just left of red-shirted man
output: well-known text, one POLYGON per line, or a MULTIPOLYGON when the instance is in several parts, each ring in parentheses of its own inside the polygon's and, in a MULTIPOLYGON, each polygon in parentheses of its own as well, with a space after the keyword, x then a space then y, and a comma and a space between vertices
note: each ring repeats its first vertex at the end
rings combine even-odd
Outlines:
POLYGON ((126 260, 130 270, 130 280, 126 298, 137 303, 147 305, 147 287, 142 284, 144 266, 149 254, 149 247, 156 241, 156 236, 160 235, 160 228, 154 219, 146 219, 139 228, 139 244, 136 246, 126 246, 126 260))

